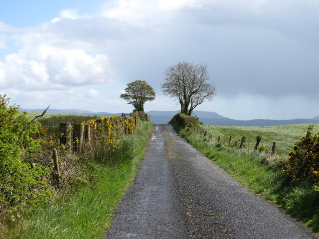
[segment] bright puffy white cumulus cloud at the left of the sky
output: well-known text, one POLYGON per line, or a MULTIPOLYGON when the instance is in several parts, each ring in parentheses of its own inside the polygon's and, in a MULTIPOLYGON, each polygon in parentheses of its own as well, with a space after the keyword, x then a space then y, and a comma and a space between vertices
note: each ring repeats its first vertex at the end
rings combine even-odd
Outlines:
POLYGON ((64 50, 45 44, 26 47, 0 64, 1 86, 16 89, 62 89, 64 86, 114 82, 110 59, 84 50, 64 50))

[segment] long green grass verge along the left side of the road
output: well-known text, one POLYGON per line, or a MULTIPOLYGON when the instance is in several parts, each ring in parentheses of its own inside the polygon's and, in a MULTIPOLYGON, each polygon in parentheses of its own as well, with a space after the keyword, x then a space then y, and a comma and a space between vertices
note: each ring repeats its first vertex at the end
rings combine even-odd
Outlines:
MULTIPOLYGON (((140 123, 139 123, 140 124, 140 123)), ((108 154, 118 158, 117 163, 108 163, 107 158, 96 158, 89 153, 84 160, 82 174, 75 178, 71 194, 56 199, 28 218, 6 230, 5 239, 88 239, 102 238, 109 228, 112 214, 125 189, 132 183, 138 165, 150 138, 152 122, 142 122, 133 135, 121 141, 131 147, 119 147, 122 153, 108 154)), ((93 150, 104 150, 93 148, 93 150)), ((101 155, 104 155, 101 152, 101 155)), ((1 238, 1 236, 0 236, 1 238)))

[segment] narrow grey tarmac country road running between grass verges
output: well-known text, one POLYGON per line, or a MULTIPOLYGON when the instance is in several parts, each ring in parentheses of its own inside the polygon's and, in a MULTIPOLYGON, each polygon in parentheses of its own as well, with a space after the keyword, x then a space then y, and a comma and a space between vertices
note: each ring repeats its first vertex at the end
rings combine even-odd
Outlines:
POLYGON ((105 239, 315 239, 301 223, 183 140, 153 127, 146 158, 105 239))

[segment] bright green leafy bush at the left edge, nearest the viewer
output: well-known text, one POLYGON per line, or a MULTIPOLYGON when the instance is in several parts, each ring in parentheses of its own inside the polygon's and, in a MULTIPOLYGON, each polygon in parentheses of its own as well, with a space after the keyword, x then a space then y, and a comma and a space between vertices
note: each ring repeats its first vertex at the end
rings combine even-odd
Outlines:
POLYGON ((51 193, 45 178, 49 171, 23 161, 39 148, 40 140, 34 139, 38 122, 8 105, 0 95, 0 216, 14 220, 48 202, 51 193))

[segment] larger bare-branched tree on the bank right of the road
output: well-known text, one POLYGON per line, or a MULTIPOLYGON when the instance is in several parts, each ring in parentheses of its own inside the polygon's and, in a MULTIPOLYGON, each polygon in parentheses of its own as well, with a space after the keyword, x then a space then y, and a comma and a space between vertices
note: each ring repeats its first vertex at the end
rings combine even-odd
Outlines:
POLYGON ((211 101, 216 89, 209 81, 207 65, 178 62, 164 71, 165 82, 161 85, 164 95, 180 104, 180 112, 188 116, 204 100, 211 101))

